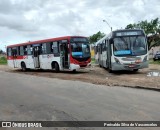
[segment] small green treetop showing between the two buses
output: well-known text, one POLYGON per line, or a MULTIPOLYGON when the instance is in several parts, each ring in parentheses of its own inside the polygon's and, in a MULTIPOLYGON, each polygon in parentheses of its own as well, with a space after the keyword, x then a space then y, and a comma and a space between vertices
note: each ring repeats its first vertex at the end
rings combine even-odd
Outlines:
POLYGON ((89 37, 89 41, 91 44, 97 42, 99 39, 103 38, 105 36, 104 33, 101 33, 100 31, 97 32, 96 34, 93 34, 92 36, 89 37))

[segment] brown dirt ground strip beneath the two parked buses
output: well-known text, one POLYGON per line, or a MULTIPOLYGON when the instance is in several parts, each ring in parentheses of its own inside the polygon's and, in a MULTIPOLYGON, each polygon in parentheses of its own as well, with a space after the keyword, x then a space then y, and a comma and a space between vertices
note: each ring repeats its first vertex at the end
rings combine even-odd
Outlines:
POLYGON ((119 71, 115 73, 109 73, 98 65, 92 65, 91 68, 81 69, 75 73, 70 71, 56 73, 50 70, 28 70, 23 72, 21 69, 9 68, 7 65, 0 65, 0 70, 64 80, 79 80, 107 86, 147 88, 160 91, 160 65, 154 64, 150 64, 149 68, 139 70, 138 72, 119 71), (159 76, 151 76, 152 72, 159 73, 159 76))

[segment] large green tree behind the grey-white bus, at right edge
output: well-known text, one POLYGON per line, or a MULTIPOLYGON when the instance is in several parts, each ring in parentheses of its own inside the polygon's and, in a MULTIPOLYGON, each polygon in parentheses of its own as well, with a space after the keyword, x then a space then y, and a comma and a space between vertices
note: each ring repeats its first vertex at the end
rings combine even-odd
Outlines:
POLYGON ((151 49, 152 46, 160 45, 160 21, 158 18, 148 22, 147 20, 139 23, 128 24, 126 29, 141 28, 147 35, 148 47, 151 49), (149 36, 150 35, 150 36, 149 36))

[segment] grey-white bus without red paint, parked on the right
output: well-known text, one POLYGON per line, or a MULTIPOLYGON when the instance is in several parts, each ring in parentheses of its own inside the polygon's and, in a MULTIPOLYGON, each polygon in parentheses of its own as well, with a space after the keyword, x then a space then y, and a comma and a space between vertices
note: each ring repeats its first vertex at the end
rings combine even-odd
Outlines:
POLYGON ((148 67, 148 45, 141 29, 112 31, 95 43, 95 60, 109 72, 148 67))

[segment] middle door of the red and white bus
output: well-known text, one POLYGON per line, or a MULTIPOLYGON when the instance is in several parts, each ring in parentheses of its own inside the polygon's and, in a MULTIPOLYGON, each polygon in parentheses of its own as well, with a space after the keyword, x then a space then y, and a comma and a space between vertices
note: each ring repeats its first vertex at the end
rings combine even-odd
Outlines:
POLYGON ((40 47, 39 46, 33 47, 33 62, 35 68, 40 68, 39 54, 40 54, 40 47))

